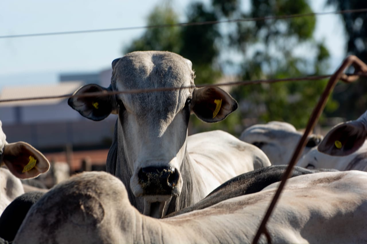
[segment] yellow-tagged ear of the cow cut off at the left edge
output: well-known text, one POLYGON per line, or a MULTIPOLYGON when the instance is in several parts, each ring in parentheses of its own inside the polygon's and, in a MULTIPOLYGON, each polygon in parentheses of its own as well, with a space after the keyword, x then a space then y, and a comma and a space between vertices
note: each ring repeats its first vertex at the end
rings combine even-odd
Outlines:
POLYGON ((21 179, 37 177, 50 169, 46 157, 23 141, 6 144, 3 154, 3 162, 10 172, 21 179))

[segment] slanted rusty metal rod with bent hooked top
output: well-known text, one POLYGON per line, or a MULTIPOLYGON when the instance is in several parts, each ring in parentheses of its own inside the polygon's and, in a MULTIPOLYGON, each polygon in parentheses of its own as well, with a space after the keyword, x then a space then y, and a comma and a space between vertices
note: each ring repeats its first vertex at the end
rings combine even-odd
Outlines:
MULTIPOLYGON (((297 148, 294 150, 293 156, 288 164, 288 167, 286 169, 286 172, 284 172, 282 178, 281 178, 281 182, 279 184, 279 187, 273 197, 272 202, 269 205, 268 210, 266 211, 266 214, 259 226, 259 229, 254 237, 254 240, 252 241, 253 244, 258 243, 258 240, 261 236, 262 233, 264 233, 268 239, 269 242, 269 237, 268 237, 268 231, 266 230, 266 222, 268 221, 274 207, 275 204, 277 202, 277 200, 279 199, 280 193, 284 188, 284 185, 286 184, 287 179, 289 178, 291 171, 295 165, 295 163, 297 162, 299 155, 302 153, 305 145, 306 145, 306 139, 309 136, 309 134, 312 132, 313 127, 315 127, 321 112, 324 110, 324 107, 326 105, 327 99, 331 93, 331 91, 334 89, 335 85, 337 84, 338 80, 342 80, 346 83, 350 83, 353 81, 356 81, 358 79, 359 76, 366 76, 367 75, 367 65, 365 63, 363 63, 359 58, 357 58, 354 55, 350 55, 348 56, 346 59, 344 59, 343 63, 341 64, 341 66, 339 67, 339 69, 337 71, 335 71, 335 73, 330 77, 330 80, 326 86, 326 88, 324 89, 324 92, 322 93, 322 95, 320 96, 320 100, 319 102, 316 104, 316 107, 314 108, 314 110, 312 111, 312 114, 310 116, 310 119, 307 123, 305 132, 301 138, 301 140, 299 140, 297 148), (343 72, 349 67, 349 66, 353 66, 355 69, 354 74, 352 75, 346 75, 343 74, 343 72)), ((270 240, 271 242, 271 240, 270 240)))

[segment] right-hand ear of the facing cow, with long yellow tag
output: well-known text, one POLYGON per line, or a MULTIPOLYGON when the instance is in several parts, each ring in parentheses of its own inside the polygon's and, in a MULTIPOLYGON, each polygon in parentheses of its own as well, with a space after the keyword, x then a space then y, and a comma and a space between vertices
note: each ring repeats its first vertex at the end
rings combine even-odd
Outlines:
POLYGON ((205 122, 218 122, 235 111, 238 104, 232 96, 219 87, 195 88, 191 110, 205 122))

